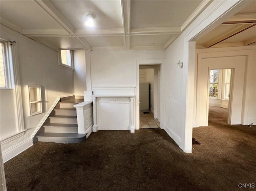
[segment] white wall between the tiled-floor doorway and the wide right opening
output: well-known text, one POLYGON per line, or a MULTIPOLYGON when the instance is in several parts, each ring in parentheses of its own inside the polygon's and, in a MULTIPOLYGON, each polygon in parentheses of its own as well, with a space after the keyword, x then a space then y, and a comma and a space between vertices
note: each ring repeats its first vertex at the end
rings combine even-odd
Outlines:
POLYGON ((183 72, 176 62, 183 61, 184 35, 180 35, 166 49, 166 106, 165 130, 181 146, 182 138, 182 87, 183 72), (170 99, 168 99, 170 94, 170 99))

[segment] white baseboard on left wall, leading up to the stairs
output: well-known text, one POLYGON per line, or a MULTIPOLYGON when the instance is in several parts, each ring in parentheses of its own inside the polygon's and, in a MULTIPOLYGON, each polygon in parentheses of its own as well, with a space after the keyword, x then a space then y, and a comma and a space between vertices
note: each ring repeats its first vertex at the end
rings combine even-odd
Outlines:
POLYGON ((33 140, 32 138, 28 138, 19 144, 15 145, 14 147, 2 152, 3 155, 3 162, 5 163, 6 161, 14 158, 18 154, 22 153, 24 150, 30 148, 33 145, 33 140))

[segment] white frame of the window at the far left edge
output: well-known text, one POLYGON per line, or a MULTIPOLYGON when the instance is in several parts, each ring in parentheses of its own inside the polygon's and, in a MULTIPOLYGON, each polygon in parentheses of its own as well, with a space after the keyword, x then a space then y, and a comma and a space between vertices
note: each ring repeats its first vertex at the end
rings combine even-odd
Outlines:
POLYGON ((11 79, 11 69, 12 69, 12 52, 8 47, 8 41, 4 39, 0 39, 0 43, 3 44, 3 62, 4 62, 4 78, 5 78, 5 87, 0 87, 0 90, 12 90, 14 87, 12 86, 12 79, 11 79))

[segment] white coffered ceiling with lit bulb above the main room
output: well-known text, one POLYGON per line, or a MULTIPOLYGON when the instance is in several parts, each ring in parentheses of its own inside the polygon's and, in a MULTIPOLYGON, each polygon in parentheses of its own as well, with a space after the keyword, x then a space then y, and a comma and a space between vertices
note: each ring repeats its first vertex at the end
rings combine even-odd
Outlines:
POLYGON ((209 0, 1 0, 0 22, 52 49, 164 49, 209 0), (95 27, 84 24, 95 14, 95 27))

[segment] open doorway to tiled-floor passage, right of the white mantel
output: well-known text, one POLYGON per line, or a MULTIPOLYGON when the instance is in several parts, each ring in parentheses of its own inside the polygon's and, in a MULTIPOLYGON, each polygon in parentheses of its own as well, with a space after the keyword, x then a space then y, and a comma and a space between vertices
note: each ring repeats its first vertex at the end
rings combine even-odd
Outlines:
POLYGON ((140 65, 140 128, 160 128, 160 65, 140 65))

